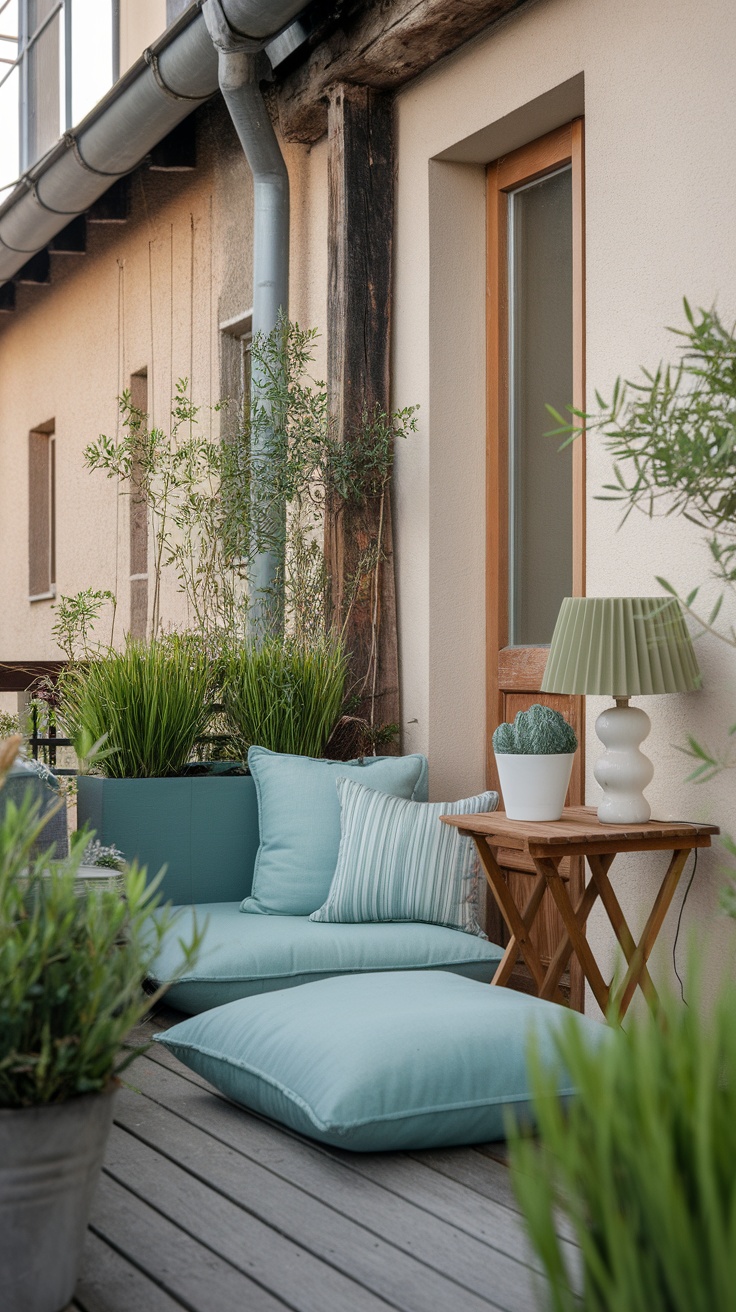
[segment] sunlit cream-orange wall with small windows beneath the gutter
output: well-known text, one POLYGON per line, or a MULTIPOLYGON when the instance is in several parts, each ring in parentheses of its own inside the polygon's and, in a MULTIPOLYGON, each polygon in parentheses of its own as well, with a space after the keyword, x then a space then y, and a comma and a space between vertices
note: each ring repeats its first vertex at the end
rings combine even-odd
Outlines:
MULTIPOLYGON (((127 222, 89 223, 87 253, 52 256, 51 285, 18 287, 1 319, 0 659, 59 655, 51 604, 28 601, 29 430, 54 420, 56 593, 112 589, 118 632, 129 622, 129 500, 85 470, 84 449, 118 432, 115 398, 143 369, 151 422, 167 425, 176 380, 188 378, 202 426, 216 433, 219 323, 252 299, 252 180, 222 105, 199 112, 197 150, 190 173, 136 172, 127 222)), ((163 614, 186 618, 171 579, 163 614)))

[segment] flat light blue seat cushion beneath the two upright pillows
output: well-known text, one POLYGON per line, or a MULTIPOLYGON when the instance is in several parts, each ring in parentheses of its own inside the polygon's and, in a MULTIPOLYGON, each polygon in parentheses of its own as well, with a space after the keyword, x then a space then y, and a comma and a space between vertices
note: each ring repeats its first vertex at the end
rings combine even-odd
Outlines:
POLYGON ((206 924, 205 939, 195 964, 167 994, 190 1014, 331 975, 432 968, 491 980, 502 955, 487 939, 441 925, 315 925, 308 917, 243 916, 239 903, 210 903, 177 909, 155 966, 159 980, 180 968, 178 941, 190 937, 193 914, 206 924))

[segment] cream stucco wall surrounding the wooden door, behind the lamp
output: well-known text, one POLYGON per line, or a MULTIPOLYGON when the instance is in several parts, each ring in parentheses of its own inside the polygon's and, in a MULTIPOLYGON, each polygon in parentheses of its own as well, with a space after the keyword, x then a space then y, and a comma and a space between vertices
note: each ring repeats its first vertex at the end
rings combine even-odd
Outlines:
MULTIPOLYGON (((394 404, 421 403, 420 434, 399 451, 398 562, 404 736, 428 750, 434 796, 483 785, 484 753, 484 265, 483 165, 585 113, 586 366, 589 395, 617 374, 673 353, 664 325, 684 294, 736 315, 736 144, 729 0, 539 0, 447 58, 396 105, 398 216, 394 404), (724 155, 726 152, 726 155, 724 155)), ((699 534, 682 520, 631 518, 596 500, 610 468, 589 442, 588 592, 649 594, 655 575, 687 589, 707 572, 699 534)), ((554 508, 551 508, 554 513, 554 508)), ((653 813, 736 829, 732 782, 684 782, 674 744, 718 741, 733 715, 732 653, 698 647, 705 691, 649 699, 653 813)), ((592 723, 603 703, 589 699, 592 723)), ((597 787, 588 781, 588 800, 597 787)), ((732 926, 718 917, 722 858, 701 857, 685 929, 707 930, 705 955, 729 960, 732 926)), ((632 926, 657 886, 657 858, 631 858, 618 888, 632 926)), ((676 904, 656 968, 672 974, 676 904)), ((613 960, 593 916, 589 935, 613 960)), ((681 942, 680 960, 685 956, 681 942)))

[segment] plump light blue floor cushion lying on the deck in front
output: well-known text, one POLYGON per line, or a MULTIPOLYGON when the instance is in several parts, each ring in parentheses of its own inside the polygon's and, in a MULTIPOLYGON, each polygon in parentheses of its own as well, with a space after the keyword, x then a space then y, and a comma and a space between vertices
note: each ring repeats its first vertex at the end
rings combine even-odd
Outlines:
MULTIPOLYGON (((467 935, 466 935, 467 937, 467 935)), ((575 1015, 443 971, 304 984, 207 1012, 157 1040, 240 1102, 357 1152, 484 1143, 527 1113, 527 1043, 543 1060, 575 1015)), ((579 1023, 600 1039, 602 1026, 579 1023)), ((572 1090, 560 1075, 559 1092, 572 1090)))

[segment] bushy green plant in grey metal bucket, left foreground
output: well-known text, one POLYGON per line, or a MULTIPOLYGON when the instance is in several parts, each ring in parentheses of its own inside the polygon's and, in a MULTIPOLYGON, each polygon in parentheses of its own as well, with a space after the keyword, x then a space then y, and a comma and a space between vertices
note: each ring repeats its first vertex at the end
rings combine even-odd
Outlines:
MULTIPOLYGON (((0 787, 20 736, 0 743, 0 787)), ((125 896, 75 883, 85 837, 54 862, 34 786, 0 821, 0 1271, 3 1307, 59 1312, 73 1295, 87 1219, 142 983, 168 917, 129 867, 125 896)), ((185 947, 192 963, 195 941, 185 947)))

